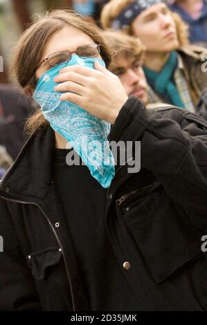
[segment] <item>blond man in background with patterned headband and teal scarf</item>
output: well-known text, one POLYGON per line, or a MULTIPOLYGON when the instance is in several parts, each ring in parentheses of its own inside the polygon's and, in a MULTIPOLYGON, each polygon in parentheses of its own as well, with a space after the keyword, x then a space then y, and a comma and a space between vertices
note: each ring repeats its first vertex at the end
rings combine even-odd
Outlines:
POLYGON ((206 49, 189 44, 187 26, 160 0, 111 0, 102 10, 104 29, 122 30, 145 45, 143 69, 149 102, 167 102, 196 111, 206 88, 201 69, 206 49))

